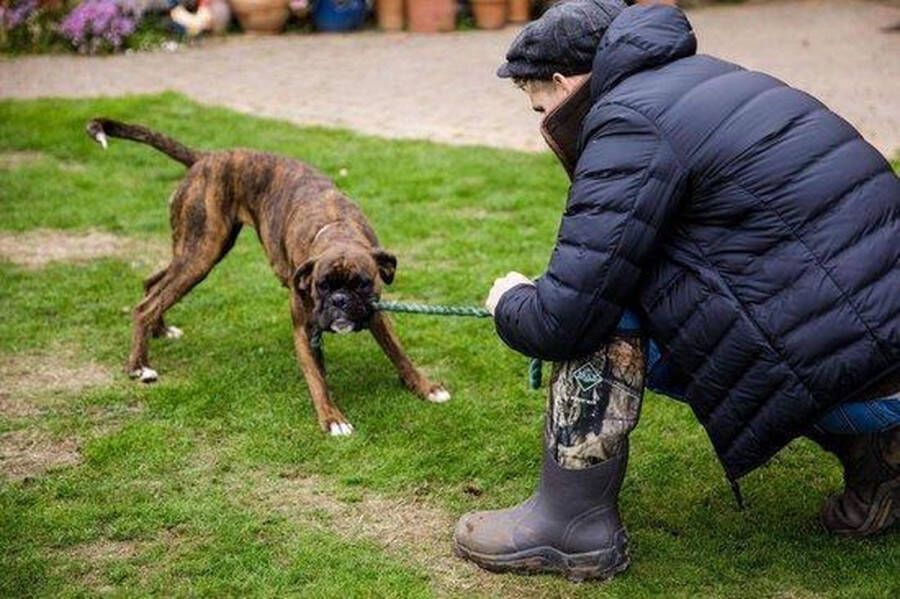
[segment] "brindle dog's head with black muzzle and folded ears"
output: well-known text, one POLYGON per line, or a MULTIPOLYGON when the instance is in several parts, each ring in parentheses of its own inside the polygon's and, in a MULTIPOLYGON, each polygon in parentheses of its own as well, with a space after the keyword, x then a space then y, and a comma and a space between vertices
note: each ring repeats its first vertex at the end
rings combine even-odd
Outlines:
POLYGON ((321 330, 351 333, 368 326, 372 304, 396 269, 397 258, 380 248, 336 248, 301 264, 294 289, 312 301, 312 317, 321 330))

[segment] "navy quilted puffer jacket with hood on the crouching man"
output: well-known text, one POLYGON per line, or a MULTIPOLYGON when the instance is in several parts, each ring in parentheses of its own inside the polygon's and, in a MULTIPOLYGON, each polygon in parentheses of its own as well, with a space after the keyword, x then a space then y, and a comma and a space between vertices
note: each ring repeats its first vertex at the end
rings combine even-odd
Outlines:
POLYGON ((496 326, 566 360, 638 310, 734 479, 900 369, 900 181, 814 98, 695 51, 676 8, 610 26, 549 268, 496 326))

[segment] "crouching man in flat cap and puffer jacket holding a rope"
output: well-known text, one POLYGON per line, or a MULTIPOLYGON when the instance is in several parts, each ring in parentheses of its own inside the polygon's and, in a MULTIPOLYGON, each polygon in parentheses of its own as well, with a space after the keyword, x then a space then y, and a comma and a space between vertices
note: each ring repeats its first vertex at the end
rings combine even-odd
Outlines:
POLYGON ((504 342, 556 366, 537 491, 457 525, 482 567, 628 566, 645 385, 691 405, 735 489, 805 435, 844 466, 828 530, 900 519, 900 181, 814 98, 695 51, 677 8, 572 0, 498 72, 572 184, 546 273, 488 297, 504 342))

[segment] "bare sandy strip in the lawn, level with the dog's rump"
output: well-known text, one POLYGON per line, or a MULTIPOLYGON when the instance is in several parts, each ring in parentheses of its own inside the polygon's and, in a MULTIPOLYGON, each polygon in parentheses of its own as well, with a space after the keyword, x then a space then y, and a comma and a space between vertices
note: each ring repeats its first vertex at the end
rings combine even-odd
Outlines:
POLYGON ((37 229, 26 233, 0 233, 0 257, 32 269, 51 262, 87 262, 106 257, 155 264, 165 260, 166 256, 166 249, 160 243, 103 231, 77 233, 37 229))

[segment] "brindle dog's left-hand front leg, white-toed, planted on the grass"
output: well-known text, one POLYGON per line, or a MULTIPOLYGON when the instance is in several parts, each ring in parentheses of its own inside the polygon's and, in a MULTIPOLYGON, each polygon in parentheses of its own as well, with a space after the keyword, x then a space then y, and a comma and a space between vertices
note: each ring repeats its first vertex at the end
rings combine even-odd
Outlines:
POLYGON ((300 370, 303 371, 309 387, 309 395, 313 407, 316 409, 319 426, 333 436, 349 435, 353 432, 353 426, 347 422, 341 411, 331 401, 328 385, 325 383, 325 373, 316 359, 316 350, 311 343, 311 328, 307 326, 306 311, 300 299, 293 294, 291 295, 291 316, 294 321, 294 348, 297 352, 297 363, 300 365, 300 370))

